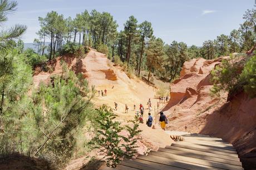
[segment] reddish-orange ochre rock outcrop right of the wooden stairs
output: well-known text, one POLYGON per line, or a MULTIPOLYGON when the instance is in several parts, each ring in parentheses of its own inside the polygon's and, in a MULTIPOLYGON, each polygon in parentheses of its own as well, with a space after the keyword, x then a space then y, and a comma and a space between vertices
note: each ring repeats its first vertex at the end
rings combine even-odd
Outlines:
POLYGON ((184 63, 164 108, 168 129, 223 138, 234 144, 246 168, 256 168, 256 99, 240 92, 227 102, 228 93, 212 97, 210 92, 211 70, 228 57, 184 63))

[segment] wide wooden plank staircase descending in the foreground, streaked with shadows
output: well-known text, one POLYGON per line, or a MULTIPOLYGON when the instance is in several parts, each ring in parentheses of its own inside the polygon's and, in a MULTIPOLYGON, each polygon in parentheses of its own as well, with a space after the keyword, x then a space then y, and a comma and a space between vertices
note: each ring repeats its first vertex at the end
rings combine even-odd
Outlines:
MULTIPOLYGON (((232 144, 220 138, 185 134, 183 142, 151 151, 147 156, 124 160, 115 169, 243 169, 237 151, 232 144)), ((111 170, 101 166, 101 170, 111 170)))

